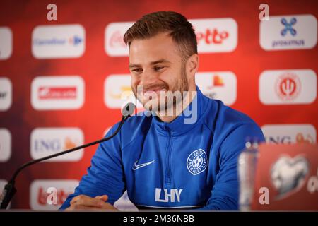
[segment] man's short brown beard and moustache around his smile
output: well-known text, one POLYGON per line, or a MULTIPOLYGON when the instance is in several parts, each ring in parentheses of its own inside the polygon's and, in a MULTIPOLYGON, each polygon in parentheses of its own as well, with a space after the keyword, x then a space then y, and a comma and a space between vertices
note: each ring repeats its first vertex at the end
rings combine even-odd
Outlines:
POLYGON ((162 83, 160 84, 149 84, 142 87, 136 86, 133 87, 132 90, 135 97, 139 100, 139 102, 143 104, 143 107, 148 111, 163 113, 167 112, 168 109, 175 109, 176 105, 179 105, 180 102, 182 102, 184 98, 187 97, 186 94, 189 91, 189 83, 187 81, 185 64, 182 64, 181 78, 176 78, 171 85, 168 85, 167 83, 162 81, 162 83), (159 97, 155 98, 155 100, 153 100, 153 102, 151 102, 150 104, 149 102, 151 101, 151 99, 143 101, 142 90, 147 91, 156 89, 165 89, 165 100, 163 100, 163 97, 160 97, 160 95, 163 94, 162 92, 160 92, 159 97), (179 93, 180 95, 177 95, 177 93, 179 93))

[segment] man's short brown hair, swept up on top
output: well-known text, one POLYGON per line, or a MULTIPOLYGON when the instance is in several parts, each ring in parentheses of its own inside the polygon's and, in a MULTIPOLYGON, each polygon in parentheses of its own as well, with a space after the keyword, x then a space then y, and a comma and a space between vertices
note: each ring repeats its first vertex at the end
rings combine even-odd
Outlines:
POLYGON ((192 24, 180 13, 173 11, 146 14, 126 31, 124 42, 130 45, 133 40, 148 39, 160 32, 169 32, 172 40, 179 45, 182 59, 188 59, 192 54, 198 53, 192 24))

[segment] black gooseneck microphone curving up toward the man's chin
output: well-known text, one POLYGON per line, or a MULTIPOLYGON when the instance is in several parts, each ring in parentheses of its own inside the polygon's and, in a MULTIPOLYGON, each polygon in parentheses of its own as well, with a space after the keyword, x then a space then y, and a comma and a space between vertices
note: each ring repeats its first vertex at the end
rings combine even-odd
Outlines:
POLYGON ((2 196, 1 196, 1 209, 6 209, 8 206, 8 203, 10 203, 11 199, 13 198, 14 194, 16 194, 16 188, 14 187, 14 184, 16 182, 16 177, 18 176, 18 174, 22 171, 22 169, 24 169, 25 167, 28 167, 30 165, 33 165, 37 162, 42 162, 44 160, 48 160, 52 157, 57 157, 59 155, 64 155, 66 153, 71 153, 73 151, 82 149, 82 148, 87 148, 91 145, 95 145, 98 143, 102 143, 104 141, 108 141, 111 138, 113 138, 122 128, 122 125, 124 124, 124 122, 126 121, 126 119, 128 119, 129 117, 131 117, 131 115, 134 113, 134 110, 136 108, 136 105, 134 105, 133 103, 129 102, 128 104, 125 105, 125 107, 122 109, 122 120, 119 123, 119 126, 117 127, 116 131, 114 131, 114 133, 112 133, 111 136, 102 138, 98 141, 94 141, 91 143, 87 143, 81 146, 78 146, 76 148, 71 148, 69 150, 64 150, 60 153, 54 154, 54 155, 49 155, 47 157, 42 157, 39 158, 37 160, 32 160, 30 162, 26 162, 25 164, 21 165, 18 169, 16 169, 16 172, 14 172, 13 176, 11 177, 10 181, 8 182, 8 184, 6 184, 6 186, 4 186, 4 191, 2 192, 2 196))

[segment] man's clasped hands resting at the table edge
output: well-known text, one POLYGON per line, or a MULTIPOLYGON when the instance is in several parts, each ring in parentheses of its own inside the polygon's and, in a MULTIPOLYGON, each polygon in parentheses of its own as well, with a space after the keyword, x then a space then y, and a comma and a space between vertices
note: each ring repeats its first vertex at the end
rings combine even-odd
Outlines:
POLYGON ((73 210, 111 210, 117 211, 117 208, 114 208, 110 203, 105 203, 108 199, 107 195, 96 196, 91 198, 89 196, 80 195, 74 197, 70 204, 69 208, 66 208, 66 211, 73 210))

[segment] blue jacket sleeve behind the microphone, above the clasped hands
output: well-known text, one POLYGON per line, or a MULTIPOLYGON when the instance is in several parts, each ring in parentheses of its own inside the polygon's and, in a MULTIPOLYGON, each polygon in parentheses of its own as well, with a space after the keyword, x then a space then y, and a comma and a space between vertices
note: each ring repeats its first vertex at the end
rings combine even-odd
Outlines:
MULTIPOLYGON (((116 124, 110 129, 106 136, 110 136, 117 129, 116 124)), ((124 170, 120 148, 120 131, 109 141, 100 143, 88 167, 87 174, 82 177, 73 194, 59 208, 64 210, 70 206, 70 201, 78 195, 90 197, 106 194, 108 203, 114 204, 125 191, 124 170)))

